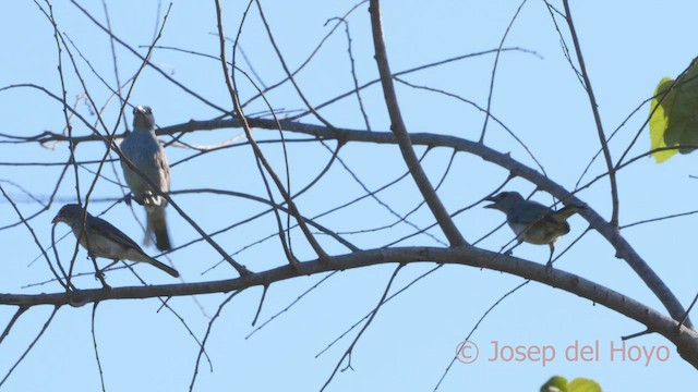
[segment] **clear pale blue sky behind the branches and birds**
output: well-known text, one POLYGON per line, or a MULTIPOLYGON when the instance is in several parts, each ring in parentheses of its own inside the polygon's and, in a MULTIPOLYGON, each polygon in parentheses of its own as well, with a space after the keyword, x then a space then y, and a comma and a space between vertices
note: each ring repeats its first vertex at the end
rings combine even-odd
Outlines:
MULTIPOLYGON (((100 3, 84 4, 100 22, 105 13, 100 3)), ((275 40, 291 69, 302 63, 329 30, 325 22, 340 16, 351 7, 351 1, 264 1, 265 15, 272 26, 275 40)), ((388 57, 394 72, 426 63, 483 50, 495 49, 519 7, 513 1, 384 1, 383 20, 388 57)), ((224 23, 230 37, 237 33, 244 4, 224 2, 224 23)), ((562 3, 554 5, 563 10, 562 3)), ((80 10, 68 3, 53 4, 60 29, 70 37, 92 66, 110 84, 115 84, 112 54, 108 36, 100 32, 80 10)), ((108 3, 113 32, 125 42, 144 54, 152 42, 158 15, 157 2, 108 3)), ((576 1, 573 15, 579 34, 587 68, 599 102, 606 134, 613 132, 643 100, 649 98, 657 83, 664 76, 681 73, 696 56, 691 47, 695 35, 695 15, 698 5, 691 1, 666 1, 660 9, 653 1, 576 1)), ((160 8, 160 20, 167 4, 160 8)), ((254 8, 253 8, 254 9, 254 8)), ((174 2, 163 37, 158 45, 218 54, 213 2, 174 2)), ((360 84, 376 77, 373 61, 371 32, 366 5, 359 8, 349 19, 357 76, 360 84)), ((557 19, 559 24, 563 23, 557 19)), ((571 45, 563 28, 564 37, 571 45)), ((57 72, 57 50, 52 28, 38 8, 32 2, 13 2, 0 14, 0 33, 3 37, 3 61, 0 61, 0 87, 31 83, 60 94, 57 72)), ((242 48, 261 79, 270 85, 284 77, 273 48, 260 22, 252 11, 242 34, 242 48)), ((547 175, 568 189, 573 189, 591 157, 599 149, 599 139, 589 102, 581 85, 563 56, 559 37, 551 15, 541 1, 528 1, 514 23, 504 47, 522 48, 525 51, 503 52, 500 57, 492 112, 501 119, 541 162, 547 175)), ((71 50, 75 52, 74 48, 71 50)), ((140 66, 140 60, 117 48, 119 73, 128 79, 140 66)), ((99 106, 108 102, 109 90, 95 77, 84 60, 77 58, 91 95, 99 106)), ((157 49, 153 62, 168 75, 183 83, 206 99, 224 108, 230 108, 221 76, 220 64, 210 59, 167 49, 157 49)), ((430 86, 459 95, 486 106, 494 56, 481 56, 452 62, 405 75, 402 78, 416 85, 430 86)), ((82 91, 80 81, 72 72, 68 57, 63 57, 67 75, 68 100, 72 105, 82 91)), ((250 70, 250 65, 241 63, 250 70)), ((340 27, 321 49, 309 66, 298 75, 303 94, 313 105, 320 105, 352 88, 349 73, 346 37, 340 27)), ((399 101, 410 132, 431 132, 477 140, 482 131, 483 115, 471 106, 453 98, 397 84, 399 101)), ((251 97, 255 89, 241 82, 240 94, 251 97)), ((374 131, 388 131, 389 121, 382 91, 374 85, 363 91, 363 103, 374 131)), ((303 109, 303 103, 290 85, 267 96, 277 110, 303 109)), ((130 102, 153 107, 159 126, 186 122, 191 119, 208 120, 220 113, 173 86, 152 69, 145 69, 139 77, 130 102)), ((254 102, 248 113, 265 111, 263 102, 254 102)), ((84 101, 79 111, 89 121, 91 114, 84 101)), ((649 111, 645 105, 621 128, 610 144, 612 157, 617 160, 628 143, 641 130, 649 111)), ((44 131, 61 132, 64 125, 62 107, 43 93, 31 88, 13 88, 0 91, 2 134, 35 135, 44 131)), ((356 98, 348 98, 321 111, 335 126, 365 128, 356 98)), ((110 128, 117 124, 118 105, 109 102, 104 119, 110 128)), ((132 121, 127 115, 128 122, 132 121)), ((303 122, 317 123, 313 118, 303 122)), ((123 132, 124 124, 118 126, 123 132)), ((83 124, 74 124, 74 134, 87 135, 83 124)), ((203 131, 186 135, 190 145, 213 145, 238 135, 241 130, 203 131)), ((287 134, 289 138, 303 136, 287 134)), ((277 139, 278 133, 255 131, 258 139, 277 139)), ((165 138, 169 140, 169 138, 165 138)), ((534 162, 508 133, 490 122, 485 137, 488 146, 509 151, 529 166, 534 162)), ((327 144, 330 148, 334 143, 327 144)), ((642 130, 638 143, 630 150, 634 157, 647 150, 649 137, 642 130)), ((264 145, 265 156, 277 173, 284 175, 282 150, 278 144, 264 145)), ((424 152, 418 148, 418 155, 424 152)), ((266 197, 249 146, 222 149, 182 161, 194 155, 191 149, 168 147, 172 164, 172 191, 188 188, 220 188, 244 192, 266 197), (180 162, 182 161, 182 162, 180 162)), ((292 188, 300 189, 312 181, 330 159, 330 152, 316 143, 292 143, 288 146, 292 188)), ((99 159, 104 145, 79 145, 80 160, 99 159)), ((65 144, 55 149, 36 144, 0 144, 0 162, 64 162, 69 156, 65 144)), ((340 158, 360 177, 365 186, 375 189, 405 173, 405 164, 397 146, 350 144, 341 149, 340 158)), ((444 174, 450 151, 435 149, 423 161, 424 168, 436 183, 444 174)), ((649 218, 695 210, 698 183, 689 179, 697 174, 691 155, 677 156, 661 166, 642 159, 618 173, 622 199, 621 222, 628 224, 649 218)), ((92 169, 95 166, 89 167, 92 169)), ((107 164, 106 177, 115 180, 120 168, 107 164)), ((582 183, 603 173, 605 164, 597 160, 582 183)), ((25 215, 39 209, 23 195, 23 188, 46 198, 53 189, 60 167, 0 167, 0 183, 25 215)), ((81 189, 89 186, 93 174, 81 170, 81 189)), ((507 172, 482 161, 478 157, 459 154, 440 188, 446 208, 458 210, 492 192, 507 176, 507 172)), ((32 221, 44 246, 50 245, 50 220, 63 203, 75 200, 75 175, 69 170, 58 189, 58 201, 48 212, 32 221)), ((533 185, 515 179, 507 189, 530 193, 533 185)), ((95 200, 91 211, 98 213, 122 196, 123 189, 106 180, 97 182, 95 200)), ((341 164, 333 164, 327 176, 311 192, 299 198, 304 216, 314 217, 339 206, 365 192, 341 164)), ((84 195, 83 195, 84 196, 84 195)), ((278 195, 276 196, 278 199, 278 195)), ((420 195, 407 177, 396 186, 380 194, 400 215, 413 209, 420 195)), ((605 218, 611 211, 606 180, 597 182, 579 197, 605 218)), ((550 204, 551 197, 535 194, 534 199, 550 204)), ((266 209, 250 200, 206 194, 182 194, 177 203, 207 232, 241 221, 266 209)), ((169 224, 176 245, 197 237, 196 232, 169 210, 169 224)), ((116 205, 103 218, 142 240, 137 220, 144 212, 134 208, 133 213, 123 204, 116 205)), ((503 216, 494 210, 477 206, 455 220, 469 241, 476 241, 496 228, 503 216)), ((16 222, 16 215, 8 203, 0 204, 0 225, 16 222)), ((428 209, 422 207, 411 221, 420 226, 432 223, 428 209)), ((366 199, 350 208, 318 219, 318 222, 337 231, 350 232, 377 228, 395 221, 395 218, 375 200, 366 199)), ((648 261, 684 304, 688 304, 698 285, 693 277, 698 273, 691 246, 696 218, 684 218, 629 228, 623 235, 648 261)), ((558 248, 565 248, 586 229, 579 218, 570 219, 573 231, 563 237, 558 248)), ((68 233, 65 225, 57 229, 57 235, 68 233)), ((266 216, 242 228, 216 237, 230 253, 274 234, 276 221, 266 216)), ((413 229, 398 224, 392 229, 347 235, 363 248, 382 246, 413 229)), ((443 234, 430 231, 437 238, 443 234)), ((513 237, 504 228, 479 244, 498 250, 513 237)), ((323 244, 333 254, 346 253, 346 248, 329 238, 323 244)), ((57 292, 56 283, 25 287, 50 279, 38 247, 24 226, 0 231, 0 244, 5 249, 0 279, 0 292, 40 293, 57 292)), ((298 233, 293 236, 294 250, 300 258, 312 258, 312 250, 298 233)), ((438 245, 426 235, 417 236, 399 245, 438 245)), ((72 255, 72 236, 58 245, 61 259, 72 255)), ((157 255, 155 248, 146 248, 157 255)), ((521 245, 515 255, 544 262, 547 247, 521 245)), ((52 257, 52 254, 51 254, 52 257)), ((261 271, 286 262, 278 238, 246 248, 236 255, 248 268, 261 271)), ((196 243, 177 250, 160 260, 171 260, 182 273, 184 282, 229 279, 236 275, 227 265, 220 265, 203 273, 220 261, 220 256, 204 243, 196 243), (203 273, 203 274, 202 274, 203 273)), ((89 272, 91 262, 81 249, 77 269, 89 272)), ((604 284, 649 306, 663 307, 627 265, 614 257, 614 252, 603 238, 587 234, 576 246, 556 262, 556 268, 578 273, 604 284)), ((423 262, 410 265, 398 274, 394 291, 409 284, 434 267, 423 262)), ((395 266, 383 265, 361 270, 338 272, 303 297, 289 311, 284 313, 264 329, 245 336, 254 329, 251 322, 256 313, 262 290, 252 287, 240 293, 227 305, 214 324, 207 342, 207 353, 213 372, 203 360, 198 369, 195 390, 318 390, 329 377, 346 347, 357 333, 351 332, 318 358, 329 343, 346 329, 359 321, 376 305, 395 266)), ((148 266, 137 266, 136 271, 151 284, 174 283, 172 279, 148 266)), ((260 322, 266 321, 284 309, 299 295, 325 275, 302 277, 274 284, 267 293, 260 322)), ((110 284, 117 286, 140 284, 123 270, 108 272, 110 284)), ((352 355, 353 371, 338 373, 328 388, 330 391, 431 391, 453 358, 459 342, 473 328, 490 306, 522 280, 495 271, 468 267, 445 266, 420 280, 411 289, 377 314, 375 320, 359 341, 352 355)), ((96 287, 98 282, 83 278, 82 287, 96 287)), ((195 298, 173 298, 169 302, 183 317, 198 339, 206 332, 208 320, 227 295, 206 295, 195 298)), ((103 303, 97 308, 96 338, 107 390, 184 390, 191 382, 198 352, 197 345, 177 318, 154 299, 103 303)), ((4 375, 22 355, 27 344, 50 314, 50 308, 32 309, 21 318, 10 336, 0 346, 0 373, 4 375)), ((0 308, 0 320, 7 323, 13 308, 0 308)), ((92 306, 63 308, 56 316, 45 335, 14 370, 5 384, 9 391, 39 390, 97 390, 99 372, 91 333, 92 306)), ((694 316, 695 318, 696 316, 694 316)), ((642 330, 642 326, 628 320, 587 299, 537 283, 525 286, 504 299, 480 324, 471 340, 481 350, 474 364, 456 363, 440 387, 440 391, 462 390, 538 390, 551 376, 595 379, 606 391, 663 390, 696 383, 698 377, 690 365, 683 362, 671 344, 661 336, 646 335, 627 342, 646 351, 667 346, 666 360, 622 360, 611 358, 611 345, 621 344, 619 336, 642 330), (490 362, 494 356, 494 343, 509 346, 552 346, 556 357, 551 363, 534 360, 490 362), (599 359, 574 362, 563 357, 569 345, 599 344, 599 359), (502 377, 506 375, 506 377, 502 377), (671 384, 675 382, 676 384, 671 384), (496 385, 496 387, 495 387, 496 385)), ((629 348, 628 348, 629 350, 629 348)), ((657 353, 657 351, 655 351, 657 353)))

